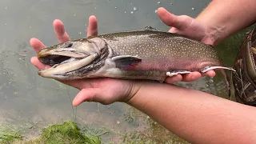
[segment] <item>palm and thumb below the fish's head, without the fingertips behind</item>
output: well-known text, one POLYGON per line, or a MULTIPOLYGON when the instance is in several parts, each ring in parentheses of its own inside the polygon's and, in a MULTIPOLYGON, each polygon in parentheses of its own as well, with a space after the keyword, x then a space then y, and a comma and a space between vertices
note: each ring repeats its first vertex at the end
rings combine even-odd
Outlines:
POLYGON ((74 106, 81 102, 126 102, 130 99, 134 82, 114 78, 90 78, 64 82, 81 90, 74 98, 74 106))

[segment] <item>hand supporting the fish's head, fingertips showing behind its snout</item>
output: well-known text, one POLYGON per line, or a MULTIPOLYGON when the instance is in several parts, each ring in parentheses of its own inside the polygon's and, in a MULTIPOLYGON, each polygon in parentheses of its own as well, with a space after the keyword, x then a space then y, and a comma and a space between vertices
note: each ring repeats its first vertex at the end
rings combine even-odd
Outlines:
MULTIPOLYGON (((60 20, 54 20, 54 31, 58 38, 58 42, 70 41, 69 35, 64 29, 64 25, 60 20)), ((90 16, 87 36, 98 34, 97 19, 90 16)), ((45 46, 37 38, 30 39, 30 45, 38 53, 45 46)), ((37 57, 32 57, 30 62, 39 70, 50 68, 42 64, 37 57)), ((59 81, 61 82, 61 81, 59 81)), ((80 90, 73 100, 73 105, 78 106, 82 102, 101 102, 102 104, 110 104, 113 102, 127 102, 137 93, 140 82, 114 79, 114 78, 91 78, 79 79, 72 81, 62 81, 66 85, 74 86, 80 90)))

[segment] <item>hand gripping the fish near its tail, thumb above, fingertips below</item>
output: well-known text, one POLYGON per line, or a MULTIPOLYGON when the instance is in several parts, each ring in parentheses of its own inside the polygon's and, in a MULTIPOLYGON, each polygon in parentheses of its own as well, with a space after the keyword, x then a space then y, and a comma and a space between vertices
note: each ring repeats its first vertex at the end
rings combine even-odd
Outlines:
MULTIPOLYGON (((169 32, 186 35, 195 40, 204 42, 209 45, 214 45, 214 38, 211 38, 208 33, 209 30, 207 26, 203 25, 201 22, 194 18, 190 18, 186 15, 177 16, 170 14, 164 8, 158 8, 157 11, 158 17, 164 22, 167 26, 172 27, 169 32)), ((174 83, 178 81, 183 82, 193 82, 194 80, 201 78, 202 76, 214 77, 214 70, 210 70, 205 74, 199 72, 192 72, 190 74, 178 74, 170 78, 166 78, 166 83, 174 83)))

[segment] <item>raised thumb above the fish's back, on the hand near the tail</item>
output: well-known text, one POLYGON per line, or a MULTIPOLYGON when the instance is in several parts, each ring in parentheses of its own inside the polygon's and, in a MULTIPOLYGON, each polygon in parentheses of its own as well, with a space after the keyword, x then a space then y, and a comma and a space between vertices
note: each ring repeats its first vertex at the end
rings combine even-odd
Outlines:
POLYGON ((158 8, 157 14, 162 22, 164 22, 167 26, 174 27, 178 30, 185 30, 188 26, 190 26, 193 20, 193 18, 186 15, 176 16, 171 14, 163 7, 158 8))

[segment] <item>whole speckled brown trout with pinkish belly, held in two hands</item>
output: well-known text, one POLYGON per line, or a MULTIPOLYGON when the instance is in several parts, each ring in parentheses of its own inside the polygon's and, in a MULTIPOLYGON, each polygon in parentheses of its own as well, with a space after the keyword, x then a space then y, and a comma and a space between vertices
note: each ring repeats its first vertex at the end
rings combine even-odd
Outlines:
POLYGON ((167 77, 221 70, 229 82, 214 46, 181 34, 146 26, 79 38, 43 48, 38 60, 51 67, 38 75, 57 80, 82 78, 144 79, 164 82, 167 77))

